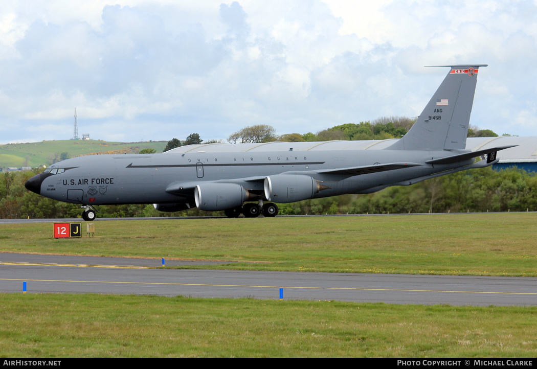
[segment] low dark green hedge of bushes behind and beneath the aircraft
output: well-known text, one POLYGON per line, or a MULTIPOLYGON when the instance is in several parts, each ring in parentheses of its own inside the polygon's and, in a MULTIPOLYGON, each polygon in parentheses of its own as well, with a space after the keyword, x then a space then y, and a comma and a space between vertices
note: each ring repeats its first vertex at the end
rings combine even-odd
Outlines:
MULTIPOLYGON (((39 196, 24 188, 38 170, 0 173, 0 218, 77 218, 79 205, 39 196)), ((537 175, 522 169, 472 169, 374 194, 342 195, 279 204, 280 215, 537 211, 537 175)), ((222 215, 197 208, 176 213, 151 204, 97 206, 99 217, 222 215)))

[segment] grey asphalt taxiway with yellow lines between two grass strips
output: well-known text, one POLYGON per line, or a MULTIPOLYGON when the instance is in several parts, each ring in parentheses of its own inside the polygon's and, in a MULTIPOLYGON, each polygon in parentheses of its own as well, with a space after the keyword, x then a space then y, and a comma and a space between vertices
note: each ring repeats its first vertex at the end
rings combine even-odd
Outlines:
MULTIPOLYGON (((165 261, 184 265, 192 261, 165 261)), ((0 253, 0 291, 537 306, 535 277, 157 269, 161 259, 0 253)))

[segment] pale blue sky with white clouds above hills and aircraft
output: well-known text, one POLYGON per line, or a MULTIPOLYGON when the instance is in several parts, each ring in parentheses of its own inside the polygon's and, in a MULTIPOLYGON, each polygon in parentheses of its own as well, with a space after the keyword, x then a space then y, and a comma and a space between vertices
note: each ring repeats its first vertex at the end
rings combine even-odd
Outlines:
POLYGON ((226 139, 419 115, 488 64, 470 124, 537 136, 537 1, 6 0, 0 143, 226 139))

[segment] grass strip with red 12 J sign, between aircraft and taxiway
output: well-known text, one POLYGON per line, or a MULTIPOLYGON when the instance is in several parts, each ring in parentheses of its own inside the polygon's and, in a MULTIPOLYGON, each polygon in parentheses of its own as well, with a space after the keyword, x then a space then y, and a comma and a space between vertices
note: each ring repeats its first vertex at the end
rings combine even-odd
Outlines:
POLYGON ((0 251, 235 262, 190 267, 206 269, 537 276, 536 225, 537 213, 114 220, 96 222, 95 238, 53 239, 52 223, 3 224, 0 251))

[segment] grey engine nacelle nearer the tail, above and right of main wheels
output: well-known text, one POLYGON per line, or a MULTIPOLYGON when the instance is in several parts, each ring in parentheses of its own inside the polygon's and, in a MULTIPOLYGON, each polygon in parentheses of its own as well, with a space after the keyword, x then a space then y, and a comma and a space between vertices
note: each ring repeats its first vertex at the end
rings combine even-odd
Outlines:
POLYGON ((264 189, 267 200, 288 203, 312 198, 323 189, 321 186, 309 175, 277 174, 265 178, 264 189))

